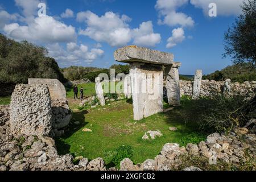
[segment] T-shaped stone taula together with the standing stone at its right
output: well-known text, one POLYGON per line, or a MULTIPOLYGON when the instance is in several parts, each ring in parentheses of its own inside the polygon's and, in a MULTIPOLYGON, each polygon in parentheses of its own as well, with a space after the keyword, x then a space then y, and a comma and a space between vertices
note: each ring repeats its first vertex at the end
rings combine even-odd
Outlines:
POLYGON ((180 104, 180 63, 174 55, 144 47, 126 46, 114 52, 114 59, 130 64, 134 120, 163 111, 163 75, 166 76, 168 103, 180 104))

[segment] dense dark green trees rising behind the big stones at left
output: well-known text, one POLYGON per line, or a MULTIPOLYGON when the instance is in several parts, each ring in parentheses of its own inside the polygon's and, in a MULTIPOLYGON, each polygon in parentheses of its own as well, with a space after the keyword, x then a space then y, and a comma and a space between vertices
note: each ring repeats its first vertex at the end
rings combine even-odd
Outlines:
POLYGON ((57 78, 66 82, 56 61, 46 55, 44 47, 15 42, 0 34, 0 83, 26 84, 28 78, 57 78))

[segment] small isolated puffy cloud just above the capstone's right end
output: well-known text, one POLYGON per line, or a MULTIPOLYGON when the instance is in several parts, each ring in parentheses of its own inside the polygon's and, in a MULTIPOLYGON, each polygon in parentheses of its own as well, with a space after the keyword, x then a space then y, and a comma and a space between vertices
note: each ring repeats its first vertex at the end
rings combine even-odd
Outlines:
POLYGON ((172 48, 177 45, 177 43, 183 42, 185 39, 183 28, 175 28, 172 30, 172 36, 167 40, 166 48, 172 48))

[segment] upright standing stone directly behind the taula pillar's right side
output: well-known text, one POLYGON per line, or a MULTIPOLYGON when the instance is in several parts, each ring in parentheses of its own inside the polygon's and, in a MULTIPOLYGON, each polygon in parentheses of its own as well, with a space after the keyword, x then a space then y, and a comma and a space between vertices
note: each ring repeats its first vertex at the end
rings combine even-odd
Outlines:
POLYGON ((180 85, 179 85, 179 67, 181 63, 174 63, 171 67, 166 68, 168 73, 166 77, 166 90, 168 104, 180 105, 180 85))

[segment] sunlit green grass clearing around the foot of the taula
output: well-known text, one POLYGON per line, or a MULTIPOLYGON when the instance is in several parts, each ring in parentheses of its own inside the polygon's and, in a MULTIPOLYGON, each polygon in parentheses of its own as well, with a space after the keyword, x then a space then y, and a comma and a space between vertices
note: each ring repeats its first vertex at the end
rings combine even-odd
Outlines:
POLYGON ((101 157, 110 164, 116 148, 122 145, 131 146, 131 160, 142 163, 148 158, 154 159, 165 143, 175 142, 185 146, 187 143, 198 143, 205 139, 206 134, 197 131, 193 113, 187 115, 191 109, 189 107, 188 101, 182 107, 141 121, 133 120, 131 100, 111 102, 110 105, 96 109, 74 111, 73 121, 79 121, 80 125, 74 125, 64 137, 56 139, 57 149, 60 154, 82 155, 89 159, 101 157), (178 130, 169 131, 169 127, 177 127, 178 130), (92 132, 82 131, 85 128, 92 132), (152 141, 142 140, 143 134, 148 130, 160 130, 163 137, 152 141))

